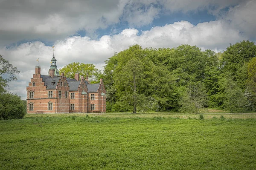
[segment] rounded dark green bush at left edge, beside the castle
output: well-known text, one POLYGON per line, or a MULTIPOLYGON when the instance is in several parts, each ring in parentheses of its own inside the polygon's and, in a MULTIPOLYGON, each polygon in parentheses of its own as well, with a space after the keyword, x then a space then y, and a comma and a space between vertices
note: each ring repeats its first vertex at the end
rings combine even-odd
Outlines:
POLYGON ((0 120, 23 118, 26 114, 26 104, 20 96, 12 93, 0 94, 0 120))

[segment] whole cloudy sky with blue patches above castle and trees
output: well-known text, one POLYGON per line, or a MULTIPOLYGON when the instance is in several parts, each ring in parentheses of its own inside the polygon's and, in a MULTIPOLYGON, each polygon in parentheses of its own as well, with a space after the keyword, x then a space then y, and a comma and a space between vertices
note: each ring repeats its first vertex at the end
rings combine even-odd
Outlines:
POLYGON ((22 99, 38 58, 47 75, 53 45, 58 69, 103 70, 133 44, 223 52, 242 40, 256 42, 256 0, 0 0, 0 55, 20 70, 7 90, 22 99))

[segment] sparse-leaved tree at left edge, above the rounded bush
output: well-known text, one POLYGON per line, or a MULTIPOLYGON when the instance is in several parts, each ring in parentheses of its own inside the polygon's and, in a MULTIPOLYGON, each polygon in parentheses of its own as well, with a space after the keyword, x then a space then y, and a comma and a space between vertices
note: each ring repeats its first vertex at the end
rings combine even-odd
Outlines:
POLYGON ((0 55, 0 92, 5 92, 5 87, 8 86, 9 81, 17 80, 16 74, 20 71, 17 70, 17 67, 12 66, 8 60, 3 58, 3 55, 0 55))

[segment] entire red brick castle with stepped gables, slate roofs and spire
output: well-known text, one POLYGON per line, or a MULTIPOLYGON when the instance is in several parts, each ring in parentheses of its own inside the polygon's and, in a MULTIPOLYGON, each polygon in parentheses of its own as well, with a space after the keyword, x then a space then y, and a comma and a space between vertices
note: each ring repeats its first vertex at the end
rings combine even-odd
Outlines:
POLYGON ((41 67, 26 87, 27 113, 88 113, 106 112, 106 91, 102 79, 90 84, 88 78, 76 73, 75 79, 59 75, 53 55, 48 75, 41 75, 41 67))

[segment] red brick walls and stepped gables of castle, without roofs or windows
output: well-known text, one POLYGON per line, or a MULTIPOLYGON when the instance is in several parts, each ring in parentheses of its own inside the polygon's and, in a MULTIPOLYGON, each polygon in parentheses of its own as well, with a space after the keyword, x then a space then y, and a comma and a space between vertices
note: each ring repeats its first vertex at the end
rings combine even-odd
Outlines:
MULTIPOLYGON (((26 88, 27 113, 87 113, 93 112, 93 110, 91 110, 91 104, 94 104, 94 111, 106 112, 106 97, 101 95, 102 92, 106 93, 102 80, 97 92, 82 95, 83 91, 88 92, 82 76, 78 89, 72 92, 69 91, 67 79, 64 77, 64 74, 61 73, 55 89, 47 89, 47 86, 41 78, 41 68, 36 67, 35 73, 36 74, 33 75, 33 78, 31 78, 29 82, 29 86, 26 88), (66 86, 64 86, 65 83, 66 86), (30 98, 30 92, 33 93, 32 98, 30 98), (52 92, 51 98, 49 98, 49 92, 52 92), (75 94, 75 98, 71 98, 71 93, 75 94), (91 95, 94 95, 94 99, 91 99, 91 95), (29 110, 29 104, 33 104, 33 110, 29 110), (72 110, 71 104, 74 104, 74 109, 72 110)), ((76 78, 79 79, 78 77, 76 78)))

